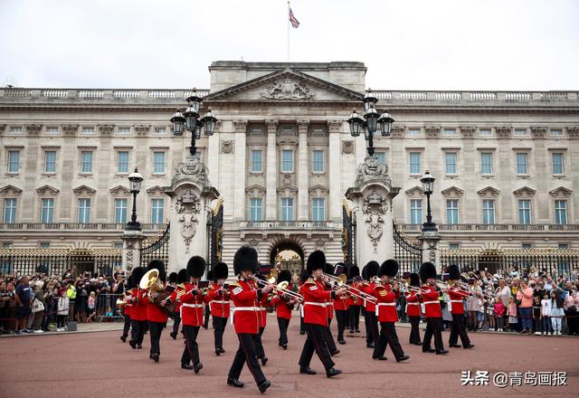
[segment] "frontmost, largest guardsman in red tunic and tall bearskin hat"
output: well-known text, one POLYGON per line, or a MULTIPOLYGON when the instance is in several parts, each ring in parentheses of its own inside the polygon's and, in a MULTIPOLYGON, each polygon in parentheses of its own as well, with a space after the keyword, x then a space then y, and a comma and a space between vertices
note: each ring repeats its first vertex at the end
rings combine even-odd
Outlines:
POLYGON ((269 380, 261 372, 260 363, 255 352, 254 336, 259 333, 258 301, 264 294, 271 291, 271 286, 258 289, 253 280, 253 273, 257 270, 257 251, 250 246, 242 246, 233 258, 233 270, 239 275, 239 280, 229 285, 233 299, 233 325, 239 338, 239 348, 235 353, 233 364, 227 376, 227 384, 242 388, 245 384, 239 381, 243 364, 247 363, 250 372, 257 383, 260 392, 271 386, 269 380))

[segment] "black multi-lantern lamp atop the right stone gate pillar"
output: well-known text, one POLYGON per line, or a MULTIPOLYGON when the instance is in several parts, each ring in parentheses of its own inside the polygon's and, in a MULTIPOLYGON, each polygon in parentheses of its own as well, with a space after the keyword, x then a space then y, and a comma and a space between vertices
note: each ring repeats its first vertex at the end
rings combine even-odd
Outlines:
POLYGON ((375 98, 372 91, 368 90, 364 96, 364 118, 360 118, 356 113, 356 109, 354 109, 350 118, 347 119, 352 137, 358 137, 364 131, 365 140, 368 141, 368 156, 374 156, 374 133, 376 130, 380 130, 382 137, 390 137, 392 123, 394 122, 394 118, 388 112, 378 113, 375 108, 376 102, 378 102, 378 99, 375 98))

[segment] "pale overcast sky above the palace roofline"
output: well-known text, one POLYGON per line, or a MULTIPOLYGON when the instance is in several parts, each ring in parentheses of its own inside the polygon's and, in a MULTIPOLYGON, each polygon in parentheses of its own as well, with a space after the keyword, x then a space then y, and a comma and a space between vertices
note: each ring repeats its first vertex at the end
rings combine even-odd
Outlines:
MULTIPOLYGON (((375 90, 579 90, 576 0, 293 0, 289 61, 375 90)), ((0 0, 0 84, 209 88, 213 61, 286 62, 286 0, 0 0)))

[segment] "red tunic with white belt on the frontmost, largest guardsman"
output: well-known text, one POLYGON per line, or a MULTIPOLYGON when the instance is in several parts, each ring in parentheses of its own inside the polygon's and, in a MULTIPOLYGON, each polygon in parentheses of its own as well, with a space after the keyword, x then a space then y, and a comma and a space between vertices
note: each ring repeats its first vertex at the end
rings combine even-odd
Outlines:
POLYGON ((259 332, 258 289, 253 280, 236 280, 229 285, 233 300, 233 325, 235 333, 259 332))

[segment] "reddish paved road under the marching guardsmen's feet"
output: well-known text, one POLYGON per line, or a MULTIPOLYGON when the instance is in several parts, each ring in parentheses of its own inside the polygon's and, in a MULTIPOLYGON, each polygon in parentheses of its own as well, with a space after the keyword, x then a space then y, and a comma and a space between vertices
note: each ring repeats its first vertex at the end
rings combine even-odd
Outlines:
MULTIPOLYGON (((396 364, 388 349, 387 361, 371 359, 361 335, 346 338, 346 346, 335 357, 344 374, 327 379, 314 356, 312 367, 320 374, 299 374, 297 365, 304 336, 299 321, 289 327, 289 348, 278 347, 275 317, 269 317, 264 346, 270 362, 264 372, 271 380, 267 395, 276 397, 365 397, 396 396, 531 396, 571 397, 579 391, 579 340, 556 336, 506 336, 477 333, 471 336, 474 349, 452 348, 442 356, 422 354, 420 346, 409 346, 407 327, 398 327, 403 349, 411 359, 396 364), (565 371, 567 386, 461 386, 461 371, 529 372, 565 371), (575 393, 572 393, 575 391, 575 393)), ((244 389, 225 384, 226 374, 237 348, 233 327, 227 326, 226 353, 213 351, 212 329, 200 332, 199 343, 204 369, 195 375, 179 366, 183 340, 173 340, 167 330, 161 341, 161 361, 148 359, 148 335, 143 350, 132 350, 119 340, 119 331, 68 335, 15 336, 0 339, 0 398, 10 397, 198 397, 215 393, 259 396, 252 376, 243 370, 244 389)), ((448 332, 443 334, 448 340, 448 332)))

